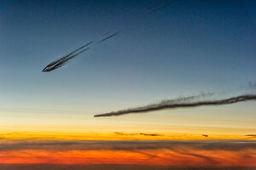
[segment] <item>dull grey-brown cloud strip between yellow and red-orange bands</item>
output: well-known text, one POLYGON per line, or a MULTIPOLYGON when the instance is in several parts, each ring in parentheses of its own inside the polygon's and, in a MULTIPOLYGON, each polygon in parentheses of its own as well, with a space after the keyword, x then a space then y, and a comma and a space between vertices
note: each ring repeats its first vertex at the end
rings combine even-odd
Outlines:
POLYGON ((195 150, 255 150, 255 140, 149 140, 149 141, 101 141, 101 140, 11 140, 0 141, 3 150, 156 150, 156 149, 195 149, 195 150))

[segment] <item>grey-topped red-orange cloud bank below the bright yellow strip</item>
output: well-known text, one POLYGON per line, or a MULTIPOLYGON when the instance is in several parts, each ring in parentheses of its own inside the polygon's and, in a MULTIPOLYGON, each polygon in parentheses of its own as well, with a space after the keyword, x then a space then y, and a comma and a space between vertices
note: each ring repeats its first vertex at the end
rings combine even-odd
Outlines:
POLYGON ((1 143, 0 160, 2 163, 256 166, 255 148, 255 140, 18 140, 1 143))

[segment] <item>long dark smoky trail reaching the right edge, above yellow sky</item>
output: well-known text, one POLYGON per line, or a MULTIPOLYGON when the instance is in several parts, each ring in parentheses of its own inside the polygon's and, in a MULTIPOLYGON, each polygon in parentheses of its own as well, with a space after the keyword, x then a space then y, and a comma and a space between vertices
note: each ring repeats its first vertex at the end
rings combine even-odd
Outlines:
POLYGON ((130 108, 126 110, 112 111, 105 114, 99 114, 99 115, 95 115, 95 117, 120 116, 120 115, 126 115, 130 113, 141 113, 141 112, 159 111, 164 109, 175 109, 175 108, 186 108, 186 107, 198 107, 203 105, 230 105, 230 104, 234 104, 242 101, 249 101, 249 100, 256 100, 256 95, 241 95, 241 96, 237 96, 229 99, 203 100, 203 101, 191 101, 188 98, 172 99, 172 100, 162 101, 154 105, 146 105, 146 106, 137 107, 137 108, 130 108))

